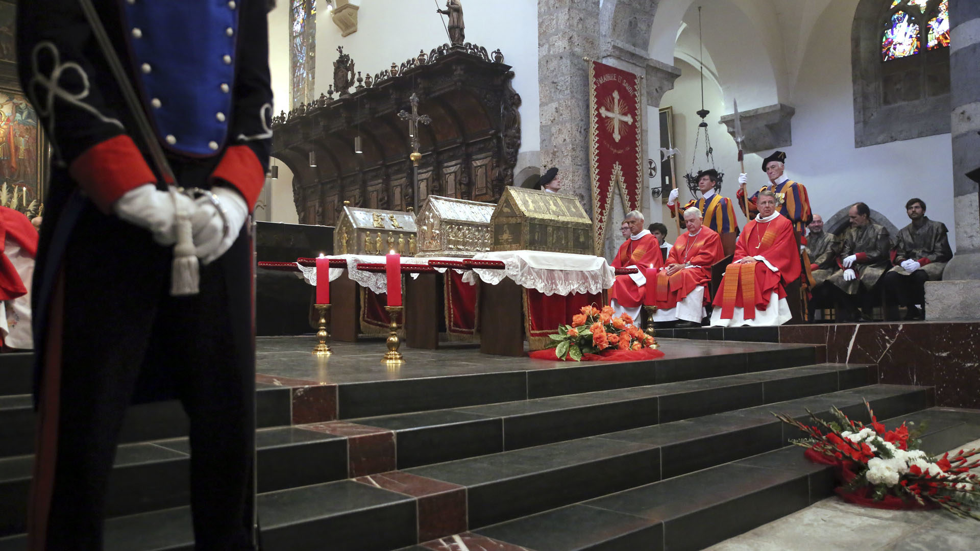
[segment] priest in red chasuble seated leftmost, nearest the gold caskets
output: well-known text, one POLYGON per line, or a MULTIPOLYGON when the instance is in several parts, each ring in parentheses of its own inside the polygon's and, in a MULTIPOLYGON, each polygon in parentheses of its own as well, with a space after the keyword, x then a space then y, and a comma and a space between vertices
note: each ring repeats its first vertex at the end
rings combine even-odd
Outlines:
POLYGON ((615 315, 629 314, 634 320, 640 315, 643 296, 646 292, 647 268, 663 266, 661 243, 657 237, 644 227, 643 213, 632 211, 626 215, 630 236, 619 246, 613 259, 613 268, 638 268, 638 274, 616 275, 610 288, 610 305, 615 315))

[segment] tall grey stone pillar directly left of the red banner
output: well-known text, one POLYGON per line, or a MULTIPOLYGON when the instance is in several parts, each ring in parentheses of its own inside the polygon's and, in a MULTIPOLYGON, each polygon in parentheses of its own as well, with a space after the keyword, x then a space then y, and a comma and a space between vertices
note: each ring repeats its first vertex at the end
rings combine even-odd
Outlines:
POLYGON ((583 58, 597 59, 598 51, 598 2, 538 2, 541 171, 558 167, 563 193, 577 196, 590 215, 589 69, 583 58))

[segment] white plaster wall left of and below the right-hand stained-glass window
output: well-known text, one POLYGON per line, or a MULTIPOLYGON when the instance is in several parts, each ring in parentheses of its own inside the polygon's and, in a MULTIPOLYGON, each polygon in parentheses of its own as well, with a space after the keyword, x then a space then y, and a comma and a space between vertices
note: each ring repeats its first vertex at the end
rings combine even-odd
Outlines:
MULTIPOLYGON (((908 224, 906 201, 920 197, 928 204, 929 218, 950 228, 956 247, 950 134, 854 146, 851 25, 856 4, 833 2, 810 34, 790 103, 796 108, 793 145, 782 148, 787 173, 807 185, 813 212, 824 218, 864 201, 902 227, 908 224)), ((764 177, 760 172, 753 176, 754 182, 764 177)))

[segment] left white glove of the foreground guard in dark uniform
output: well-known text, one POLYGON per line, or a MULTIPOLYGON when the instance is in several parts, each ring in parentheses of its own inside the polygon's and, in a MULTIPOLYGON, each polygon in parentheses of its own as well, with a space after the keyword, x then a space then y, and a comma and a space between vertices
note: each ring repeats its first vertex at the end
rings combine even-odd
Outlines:
MULTIPOLYGON (((185 213, 194 211, 190 197, 177 193, 177 203, 185 213)), ((174 208, 170 192, 157 189, 156 184, 144 183, 123 193, 113 204, 113 212, 125 222, 149 229, 153 240, 161 245, 172 245, 177 238, 174 232, 174 208)))

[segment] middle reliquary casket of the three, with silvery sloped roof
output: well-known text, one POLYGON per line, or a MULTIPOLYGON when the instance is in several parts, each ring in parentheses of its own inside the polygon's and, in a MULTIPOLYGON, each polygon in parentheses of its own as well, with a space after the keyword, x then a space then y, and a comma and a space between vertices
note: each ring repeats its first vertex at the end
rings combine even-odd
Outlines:
POLYGON ((491 249, 497 205, 429 195, 418 211, 418 256, 469 258, 491 249))

